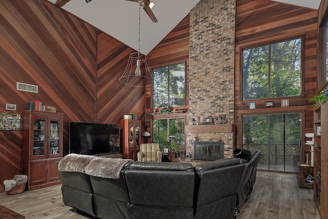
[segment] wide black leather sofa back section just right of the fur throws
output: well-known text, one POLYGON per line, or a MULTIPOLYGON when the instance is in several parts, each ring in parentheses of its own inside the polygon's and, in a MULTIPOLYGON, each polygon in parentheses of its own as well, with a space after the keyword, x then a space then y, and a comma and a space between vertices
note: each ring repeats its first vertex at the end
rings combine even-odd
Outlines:
POLYGON ((133 205, 193 206, 195 173, 190 163, 134 162, 124 173, 133 205))

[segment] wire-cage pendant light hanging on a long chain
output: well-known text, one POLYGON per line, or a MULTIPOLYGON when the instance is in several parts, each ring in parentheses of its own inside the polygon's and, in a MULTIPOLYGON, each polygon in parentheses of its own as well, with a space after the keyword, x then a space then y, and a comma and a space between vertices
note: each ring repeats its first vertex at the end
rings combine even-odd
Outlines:
POLYGON ((119 78, 119 82, 132 87, 151 87, 154 78, 149 70, 148 56, 140 53, 140 11, 139 5, 138 52, 130 53, 128 65, 119 78), (141 72, 142 67, 145 68, 144 74, 141 72))

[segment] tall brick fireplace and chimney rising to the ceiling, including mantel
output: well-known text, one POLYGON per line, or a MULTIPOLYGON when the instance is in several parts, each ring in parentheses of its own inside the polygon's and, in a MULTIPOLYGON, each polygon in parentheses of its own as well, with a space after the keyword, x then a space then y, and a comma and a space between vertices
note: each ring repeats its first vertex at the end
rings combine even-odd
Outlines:
POLYGON ((192 158, 195 141, 221 141, 224 157, 233 156, 235 9, 235 0, 203 0, 190 12, 190 125, 185 132, 186 155, 192 158), (202 125, 204 118, 216 122, 220 116, 225 124, 202 125), (198 125, 191 125, 194 121, 198 125))

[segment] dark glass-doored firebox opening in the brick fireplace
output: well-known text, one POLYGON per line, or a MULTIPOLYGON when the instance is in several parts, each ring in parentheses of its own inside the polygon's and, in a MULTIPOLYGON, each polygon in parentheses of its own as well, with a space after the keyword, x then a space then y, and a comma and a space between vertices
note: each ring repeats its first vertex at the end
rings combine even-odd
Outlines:
POLYGON ((223 158, 223 142, 194 142, 194 160, 215 161, 223 158))

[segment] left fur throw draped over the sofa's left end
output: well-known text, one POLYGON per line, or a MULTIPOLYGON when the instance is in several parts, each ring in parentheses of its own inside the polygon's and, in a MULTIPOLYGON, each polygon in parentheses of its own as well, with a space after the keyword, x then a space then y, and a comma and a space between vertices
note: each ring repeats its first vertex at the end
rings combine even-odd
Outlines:
POLYGON ((79 172, 86 173, 85 168, 96 156, 83 154, 68 154, 58 163, 58 170, 61 172, 79 172))

